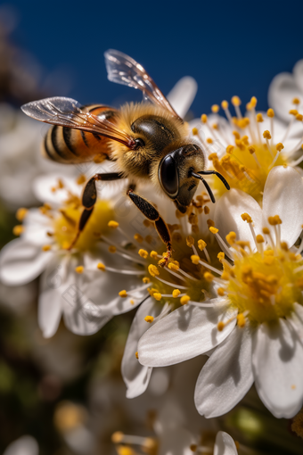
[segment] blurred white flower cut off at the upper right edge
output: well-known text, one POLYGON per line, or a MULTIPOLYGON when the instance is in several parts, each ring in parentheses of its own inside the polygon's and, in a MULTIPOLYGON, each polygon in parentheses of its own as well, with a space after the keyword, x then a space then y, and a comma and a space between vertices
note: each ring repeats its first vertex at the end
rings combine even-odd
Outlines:
POLYGON ((303 101, 303 60, 299 60, 292 70, 274 76, 268 88, 268 103, 283 121, 290 120, 289 111, 299 110, 303 101))

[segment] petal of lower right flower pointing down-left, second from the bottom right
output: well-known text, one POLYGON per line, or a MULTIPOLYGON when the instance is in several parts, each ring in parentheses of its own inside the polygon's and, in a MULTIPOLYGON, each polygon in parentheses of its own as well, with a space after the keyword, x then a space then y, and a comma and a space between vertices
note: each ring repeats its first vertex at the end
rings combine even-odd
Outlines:
POLYGON ((254 378, 250 329, 234 327, 201 369, 194 401, 206 418, 222 416, 242 400, 254 378))

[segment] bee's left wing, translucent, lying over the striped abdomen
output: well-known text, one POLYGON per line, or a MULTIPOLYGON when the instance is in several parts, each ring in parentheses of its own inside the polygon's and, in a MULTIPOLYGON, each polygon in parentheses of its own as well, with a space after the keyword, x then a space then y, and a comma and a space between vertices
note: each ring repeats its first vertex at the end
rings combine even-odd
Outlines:
POLYGON ((23 104, 21 110, 29 117, 45 123, 82 129, 88 133, 109 137, 114 141, 127 145, 129 148, 133 148, 135 145, 134 139, 127 135, 125 131, 117 128, 110 120, 102 119, 102 117, 86 112, 83 106, 72 98, 54 96, 53 98, 32 101, 31 103, 23 104))

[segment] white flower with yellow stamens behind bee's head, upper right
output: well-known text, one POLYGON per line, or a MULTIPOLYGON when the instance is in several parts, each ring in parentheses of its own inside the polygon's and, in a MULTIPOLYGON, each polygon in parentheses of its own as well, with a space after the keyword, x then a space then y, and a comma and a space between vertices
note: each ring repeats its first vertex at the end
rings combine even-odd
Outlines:
MULTIPOLYGON (((245 117, 237 96, 233 96, 232 103, 236 117, 232 117, 229 104, 223 101, 226 119, 217 114, 219 106, 214 105, 209 117, 203 114, 201 121, 192 121, 192 133, 200 139, 212 168, 232 188, 250 194, 261 203, 270 170, 287 165, 302 172, 298 165, 303 160, 303 116, 292 110, 288 114, 291 121, 286 126, 274 116, 273 109, 257 113, 255 97, 247 104, 245 117)), ((218 178, 213 178, 212 188, 217 195, 226 192, 218 178)))

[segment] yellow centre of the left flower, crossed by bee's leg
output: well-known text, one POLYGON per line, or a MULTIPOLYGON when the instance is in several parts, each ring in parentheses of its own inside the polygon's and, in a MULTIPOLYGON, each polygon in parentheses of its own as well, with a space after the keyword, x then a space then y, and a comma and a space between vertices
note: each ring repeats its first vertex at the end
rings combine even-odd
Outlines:
MULTIPOLYGON (((58 215, 53 219, 53 236, 57 244, 63 249, 70 248, 78 233, 78 222, 83 208, 75 196, 73 201, 68 201, 58 215)), ((108 223, 114 218, 111 204, 107 201, 97 201, 94 211, 86 223, 75 244, 80 251, 91 251, 102 234, 109 230, 108 223)))

